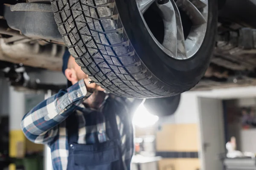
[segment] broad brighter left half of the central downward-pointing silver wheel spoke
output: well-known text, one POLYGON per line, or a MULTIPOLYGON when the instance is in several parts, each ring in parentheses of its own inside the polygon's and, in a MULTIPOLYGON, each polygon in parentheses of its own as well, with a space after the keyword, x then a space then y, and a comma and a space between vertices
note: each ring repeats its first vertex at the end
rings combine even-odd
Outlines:
POLYGON ((168 49, 172 57, 177 57, 177 26, 175 10, 172 6, 171 1, 165 4, 158 4, 158 8, 162 12, 163 22, 165 27, 163 47, 168 49))

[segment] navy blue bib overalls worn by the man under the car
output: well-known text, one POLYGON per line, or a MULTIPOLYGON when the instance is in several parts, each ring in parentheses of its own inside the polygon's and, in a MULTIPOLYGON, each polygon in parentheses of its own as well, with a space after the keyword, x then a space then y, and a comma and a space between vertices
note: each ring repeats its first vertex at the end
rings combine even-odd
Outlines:
MULTIPOLYGON (((106 102, 109 102, 107 99, 106 102)), ((109 103, 107 103, 109 104, 109 103)), ((78 144, 78 121, 75 114, 67 118, 67 131, 69 142, 69 156, 67 170, 129 170, 131 158, 122 160, 121 140, 116 124, 116 114, 113 110, 105 116, 109 121, 111 130, 108 130, 107 142, 96 144, 78 144), (126 165, 128 164, 128 166, 126 165)), ((89 114, 99 114, 92 111, 89 114)), ((105 112, 104 112, 105 113, 105 112)), ((88 113, 84 113, 88 114, 88 113)))

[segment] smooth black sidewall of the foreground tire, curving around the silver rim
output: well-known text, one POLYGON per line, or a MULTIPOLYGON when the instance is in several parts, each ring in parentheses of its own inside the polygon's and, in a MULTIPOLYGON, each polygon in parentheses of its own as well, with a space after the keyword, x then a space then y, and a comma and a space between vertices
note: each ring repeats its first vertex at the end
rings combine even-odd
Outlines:
POLYGON ((116 0, 116 6, 124 30, 137 55, 158 79, 168 85, 176 84, 192 88, 190 86, 194 86, 203 77, 215 45, 217 0, 208 1, 209 14, 204 41, 197 53, 186 60, 169 57, 154 42, 140 17, 135 0, 116 0))

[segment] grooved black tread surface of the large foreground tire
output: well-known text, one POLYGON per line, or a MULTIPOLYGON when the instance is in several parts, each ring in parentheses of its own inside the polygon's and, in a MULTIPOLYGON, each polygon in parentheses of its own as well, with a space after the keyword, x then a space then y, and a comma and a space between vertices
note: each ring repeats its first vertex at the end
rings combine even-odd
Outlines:
POLYGON ((143 64, 125 33, 114 0, 51 3, 70 54, 98 85, 116 95, 133 98, 183 92, 161 82, 143 64))

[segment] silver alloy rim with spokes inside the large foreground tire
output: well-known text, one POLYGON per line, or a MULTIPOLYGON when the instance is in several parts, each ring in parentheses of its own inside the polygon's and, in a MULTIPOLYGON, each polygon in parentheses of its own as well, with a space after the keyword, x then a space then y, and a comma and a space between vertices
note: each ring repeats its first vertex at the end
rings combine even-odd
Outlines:
POLYGON ((178 60, 193 57, 201 47, 207 29, 208 0, 136 0, 140 16, 154 42, 169 56, 178 60), (143 14, 156 3, 164 24, 163 42, 159 42, 152 34, 143 14), (186 39, 183 32, 185 12, 191 20, 191 28, 186 39))

